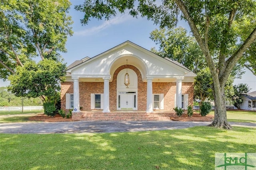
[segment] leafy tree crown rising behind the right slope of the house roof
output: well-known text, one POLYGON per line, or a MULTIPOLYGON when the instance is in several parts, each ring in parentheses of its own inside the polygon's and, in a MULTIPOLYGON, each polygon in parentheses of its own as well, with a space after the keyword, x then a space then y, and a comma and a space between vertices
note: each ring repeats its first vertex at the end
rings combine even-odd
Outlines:
POLYGON ((161 57, 178 61, 194 73, 205 67, 202 50, 185 28, 156 29, 150 33, 150 39, 160 46, 158 51, 155 48, 151 51, 161 57))

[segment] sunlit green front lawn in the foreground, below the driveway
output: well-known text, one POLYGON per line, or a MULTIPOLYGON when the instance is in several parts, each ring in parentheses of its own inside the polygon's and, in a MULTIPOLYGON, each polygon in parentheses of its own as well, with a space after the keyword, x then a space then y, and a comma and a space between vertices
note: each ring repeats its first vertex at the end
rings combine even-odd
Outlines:
POLYGON ((216 152, 256 152, 256 128, 0 134, 0 169, 214 170, 216 152))

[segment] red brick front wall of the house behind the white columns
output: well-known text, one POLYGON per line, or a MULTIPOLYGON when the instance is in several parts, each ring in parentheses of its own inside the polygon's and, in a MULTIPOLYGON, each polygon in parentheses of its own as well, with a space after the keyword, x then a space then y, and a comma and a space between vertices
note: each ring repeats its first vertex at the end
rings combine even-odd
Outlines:
MULTIPOLYGON (((117 75, 125 69, 126 65, 122 65, 116 69, 113 75, 113 81, 109 83, 109 105, 110 110, 116 110, 116 82, 117 75)), ((140 71, 133 65, 128 65, 129 69, 135 71, 138 76, 138 111, 146 111, 147 105, 147 83, 142 82, 140 71)), ((164 94, 164 110, 172 111, 174 108, 174 94, 176 93, 176 82, 153 82, 153 93, 164 94)), ((104 82, 79 82, 80 106, 83 110, 91 109, 90 94, 104 93, 104 82)), ((73 82, 61 83, 61 108, 66 110, 66 93, 73 93, 73 82)), ((193 105, 194 83, 182 83, 182 94, 188 93, 189 105, 193 105)))

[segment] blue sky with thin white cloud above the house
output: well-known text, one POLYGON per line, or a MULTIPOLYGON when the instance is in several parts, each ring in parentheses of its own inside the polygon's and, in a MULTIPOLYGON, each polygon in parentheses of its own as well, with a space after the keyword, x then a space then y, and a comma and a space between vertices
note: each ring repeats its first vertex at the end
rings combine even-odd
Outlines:
MULTIPOLYGON (((83 13, 74 10, 74 5, 82 4, 84 0, 70 0, 70 2, 74 34, 68 37, 66 43, 68 52, 61 53, 67 65, 86 56, 94 57, 127 40, 148 50, 157 47, 149 38, 150 32, 158 28, 152 21, 140 17, 133 18, 127 13, 117 14, 108 21, 91 19, 88 25, 82 26, 80 19, 83 18, 83 13)), ((180 22, 179 26, 188 29, 188 24, 184 21, 180 22)), ((250 71, 243 75, 243 79, 236 79, 234 84, 238 83, 247 83, 252 91, 256 91, 256 76, 250 71)), ((6 85, 8 83, 0 81, 0 87, 6 85)))

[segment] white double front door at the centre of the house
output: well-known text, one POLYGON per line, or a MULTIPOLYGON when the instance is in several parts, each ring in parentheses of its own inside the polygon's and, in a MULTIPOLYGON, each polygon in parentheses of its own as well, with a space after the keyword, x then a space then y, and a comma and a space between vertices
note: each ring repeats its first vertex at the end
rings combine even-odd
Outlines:
POLYGON ((136 94, 120 94, 120 109, 135 110, 136 109, 136 94))

